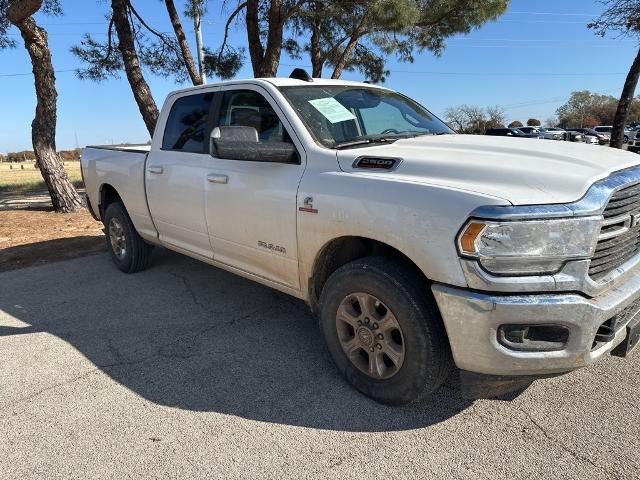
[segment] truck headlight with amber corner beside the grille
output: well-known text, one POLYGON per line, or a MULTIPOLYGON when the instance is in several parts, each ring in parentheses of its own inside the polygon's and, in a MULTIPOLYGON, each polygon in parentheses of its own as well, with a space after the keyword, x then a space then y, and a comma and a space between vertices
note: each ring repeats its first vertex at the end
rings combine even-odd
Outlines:
POLYGON ((458 249, 497 275, 556 273, 567 260, 593 255, 601 220, 472 220, 458 236, 458 249))

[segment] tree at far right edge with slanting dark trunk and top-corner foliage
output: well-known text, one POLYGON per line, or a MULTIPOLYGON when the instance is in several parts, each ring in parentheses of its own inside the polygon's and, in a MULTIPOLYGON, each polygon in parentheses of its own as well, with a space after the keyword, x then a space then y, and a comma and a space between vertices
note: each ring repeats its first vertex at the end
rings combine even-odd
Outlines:
MULTIPOLYGON (((588 26, 597 35, 604 37, 608 32, 618 32, 621 36, 640 37, 640 0, 600 0, 607 8, 588 26)), ((635 90, 640 79, 640 49, 631 64, 622 88, 620 101, 613 120, 611 143, 613 148, 622 148, 624 127, 631 109, 635 90)))

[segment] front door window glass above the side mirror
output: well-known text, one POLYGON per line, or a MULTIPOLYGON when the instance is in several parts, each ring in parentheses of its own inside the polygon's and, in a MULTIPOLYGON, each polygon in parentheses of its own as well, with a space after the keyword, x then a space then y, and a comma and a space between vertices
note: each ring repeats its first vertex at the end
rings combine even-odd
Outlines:
POLYGON ((218 125, 253 127, 258 132, 260 142, 291 142, 269 102, 252 90, 224 92, 218 125))

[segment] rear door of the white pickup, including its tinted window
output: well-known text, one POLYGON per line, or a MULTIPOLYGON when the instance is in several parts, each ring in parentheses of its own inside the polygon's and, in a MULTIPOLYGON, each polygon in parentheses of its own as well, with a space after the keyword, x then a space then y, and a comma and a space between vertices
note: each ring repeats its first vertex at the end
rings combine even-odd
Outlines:
POLYGON ((161 138, 154 139, 145 172, 149 211, 160 240, 207 258, 213 258, 204 196, 214 95, 212 89, 167 100, 158 120, 165 129, 156 132, 161 138))

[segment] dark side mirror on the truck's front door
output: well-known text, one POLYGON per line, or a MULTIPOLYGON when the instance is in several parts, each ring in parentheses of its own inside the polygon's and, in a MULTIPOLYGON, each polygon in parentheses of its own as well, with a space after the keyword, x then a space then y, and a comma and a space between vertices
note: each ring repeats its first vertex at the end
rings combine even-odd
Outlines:
POLYGON ((288 142, 260 143, 253 127, 216 127, 210 152, 218 158, 249 162, 300 163, 296 147, 288 142))

